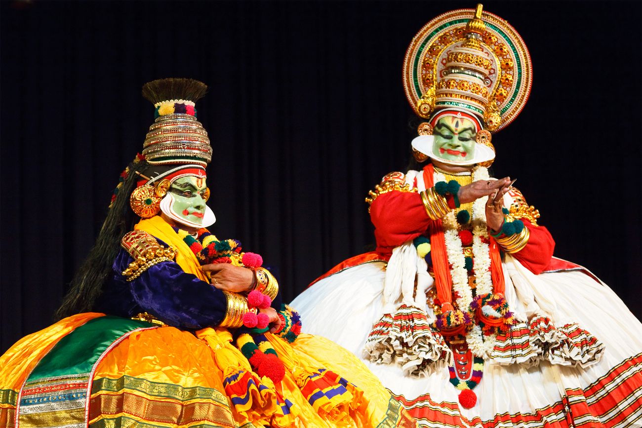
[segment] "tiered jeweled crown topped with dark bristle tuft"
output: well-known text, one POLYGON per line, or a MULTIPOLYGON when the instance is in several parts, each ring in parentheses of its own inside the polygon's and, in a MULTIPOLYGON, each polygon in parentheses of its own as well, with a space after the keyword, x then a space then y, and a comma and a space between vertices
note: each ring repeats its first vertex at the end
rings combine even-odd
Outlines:
POLYGON ((150 164, 200 164, 212 160, 207 131, 196 120, 195 103, 207 86, 192 79, 150 81, 143 96, 155 107, 155 121, 145 137, 143 155, 150 164))

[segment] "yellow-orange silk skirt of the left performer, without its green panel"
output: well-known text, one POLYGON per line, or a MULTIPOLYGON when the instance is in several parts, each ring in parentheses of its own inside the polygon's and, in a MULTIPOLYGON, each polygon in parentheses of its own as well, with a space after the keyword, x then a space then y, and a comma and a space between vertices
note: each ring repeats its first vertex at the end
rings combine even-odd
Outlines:
MULTIPOLYGON (((40 359, 76 327, 100 316, 65 318, 0 357, 0 427, 14 426, 21 388, 40 359)), ((307 334, 293 344, 272 334, 266 338, 286 367, 277 385, 252 372, 228 330, 134 330, 94 364, 85 412, 54 407, 36 417, 21 411, 19 426, 415 426, 347 350, 307 334)))

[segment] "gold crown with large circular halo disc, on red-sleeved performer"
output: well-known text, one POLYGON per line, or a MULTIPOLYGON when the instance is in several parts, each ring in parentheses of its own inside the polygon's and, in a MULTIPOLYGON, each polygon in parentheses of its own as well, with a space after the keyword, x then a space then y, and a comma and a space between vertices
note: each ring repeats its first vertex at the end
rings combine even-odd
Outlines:
POLYGON ((418 116, 469 112, 494 133, 524 108, 533 73, 517 31, 478 4, 443 13, 419 30, 406 51, 403 81, 418 116))

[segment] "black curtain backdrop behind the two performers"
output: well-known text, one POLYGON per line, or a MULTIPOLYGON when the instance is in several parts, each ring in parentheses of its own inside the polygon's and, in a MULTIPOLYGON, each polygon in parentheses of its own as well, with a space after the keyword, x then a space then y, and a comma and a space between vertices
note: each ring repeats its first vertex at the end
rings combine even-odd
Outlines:
MULTIPOLYGON (((369 250, 363 198, 404 170, 415 136, 406 47, 436 15, 474 6, 2 2, 0 352, 51 322, 142 150, 149 80, 210 86, 197 108, 214 148, 211 229, 261 253, 286 301, 369 250)), ((555 255, 640 317, 641 3, 484 6, 534 67, 526 108, 494 137, 496 176, 518 179, 555 255)))

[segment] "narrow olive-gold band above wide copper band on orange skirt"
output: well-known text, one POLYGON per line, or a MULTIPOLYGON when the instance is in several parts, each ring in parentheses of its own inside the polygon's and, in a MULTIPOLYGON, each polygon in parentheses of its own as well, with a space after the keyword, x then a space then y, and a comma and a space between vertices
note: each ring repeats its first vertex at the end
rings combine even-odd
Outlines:
POLYGON ((205 388, 204 386, 184 388, 178 385, 152 382, 131 376, 123 376, 118 379, 109 379, 107 377, 95 379, 91 388, 91 394, 93 397, 97 393, 114 393, 123 391, 124 389, 140 391, 151 397, 172 398, 173 400, 179 401, 204 398, 206 400, 213 400, 223 406, 229 405, 227 396, 221 393, 221 391, 218 391, 218 389, 205 388))

